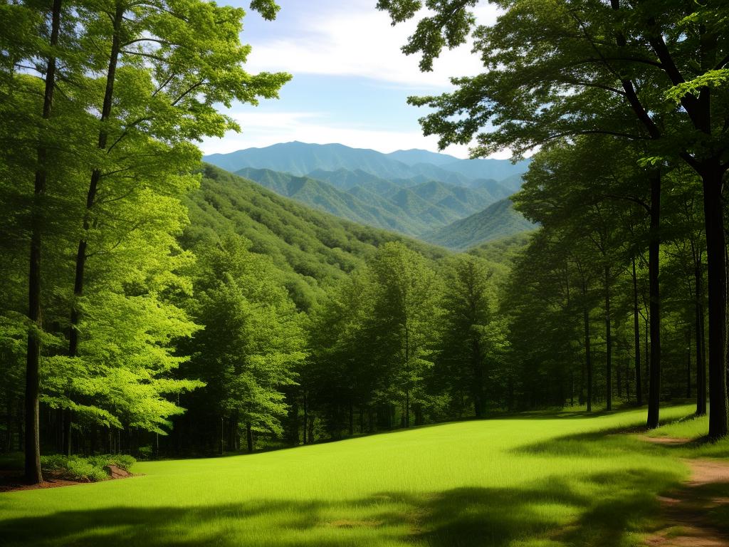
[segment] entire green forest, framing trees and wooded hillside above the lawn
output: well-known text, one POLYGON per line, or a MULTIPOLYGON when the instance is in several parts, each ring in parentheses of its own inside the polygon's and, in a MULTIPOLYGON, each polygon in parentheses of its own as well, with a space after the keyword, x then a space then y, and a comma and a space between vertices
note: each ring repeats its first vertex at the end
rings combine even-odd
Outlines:
POLYGON ((28 481, 41 453, 253 451, 534 408, 646 406, 656 427, 707 394, 726 435, 729 7, 503 1, 474 29, 476 3, 428 2, 405 51, 428 70, 474 31, 487 70, 410 102, 442 146, 536 152, 510 199, 538 228, 461 253, 200 162, 194 141, 238 128, 216 105, 289 79, 243 70, 243 10, 0 4, 0 449, 28 481))

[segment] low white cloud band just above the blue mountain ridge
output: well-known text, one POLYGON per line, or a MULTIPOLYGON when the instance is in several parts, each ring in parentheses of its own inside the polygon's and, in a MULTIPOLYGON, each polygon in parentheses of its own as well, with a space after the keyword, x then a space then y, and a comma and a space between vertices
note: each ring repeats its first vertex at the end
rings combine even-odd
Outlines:
MULTIPOLYGON (((348 147, 373 148, 385 153, 410 148, 437 152, 437 138, 423 136, 420 131, 343 126, 330 123, 326 115, 317 112, 245 112, 231 115, 241 124, 243 132, 229 132, 223 139, 205 139, 200 144, 203 152, 225 154, 288 141, 316 144, 338 142, 348 147)), ((451 146, 443 152, 457 158, 468 157, 468 147, 465 146, 451 146)), ((510 155, 504 153, 492 157, 509 158, 510 155)))

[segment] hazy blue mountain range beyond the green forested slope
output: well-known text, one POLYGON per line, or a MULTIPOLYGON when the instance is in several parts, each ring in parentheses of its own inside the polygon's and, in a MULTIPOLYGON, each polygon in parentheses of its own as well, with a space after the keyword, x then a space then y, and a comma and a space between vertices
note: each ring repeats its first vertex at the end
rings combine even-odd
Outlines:
POLYGON ((451 249, 533 228, 508 199, 521 187, 529 160, 302 142, 203 159, 313 209, 451 249))

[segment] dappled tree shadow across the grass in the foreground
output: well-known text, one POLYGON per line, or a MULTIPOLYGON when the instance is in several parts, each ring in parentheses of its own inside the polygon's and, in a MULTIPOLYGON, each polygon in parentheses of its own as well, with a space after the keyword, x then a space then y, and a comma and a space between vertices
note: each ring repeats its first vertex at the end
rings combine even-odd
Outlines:
MULTIPOLYGON (((8 546, 506 547, 515 540, 617 547, 658 512, 672 473, 547 477, 514 488, 380 492, 346 501, 251 500, 198 507, 112 507, 0 520, 8 546), (364 515, 364 516, 363 516, 364 515)), ((1 517, 0 517, 1 518, 1 517)))

